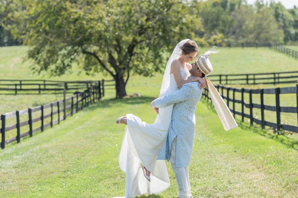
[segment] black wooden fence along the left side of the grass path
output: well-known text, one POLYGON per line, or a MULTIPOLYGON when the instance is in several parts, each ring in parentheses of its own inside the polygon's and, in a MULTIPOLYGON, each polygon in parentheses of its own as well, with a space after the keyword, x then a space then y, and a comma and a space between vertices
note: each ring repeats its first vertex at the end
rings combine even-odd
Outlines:
MULTIPOLYGON (((104 82, 104 81, 102 81, 104 82)), ((96 85, 91 85, 86 88, 81 93, 76 93, 71 97, 66 98, 66 89, 64 89, 64 97, 62 100, 54 101, 49 104, 36 106, 29 109, 13 111, 6 114, 1 114, 1 148, 4 149, 6 144, 9 144, 13 141, 20 142, 21 137, 30 136, 37 131, 43 131, 46 127, 52 127, 55 123, 60 123, 61 120, 65 120, 67 116, 73 115, 79 110, 83 109, 85 106, 88 106, 95 101, 101 99, 104 96, 104 84, 101 84, 100 81, 96 85), (67 103, 70 103, 67 105, 67 103), (53 111, 53 107, 56 107, 57 110, 53 111), (50 108, 49 114, 44 114, 44 110, 50 108), (37 118, 33 118, 33 112, 39 111, 41 116, 37 118), (63 113, 63 114, 62 114, 63 113), (56 119, 54 115, 56 115, 56 119), (61 115, 62 114, 62 115, 61 115), (28 115, 28 120, 24 122, 20 122, 20 115, 28 115), (15 118, 15 124, 6 126, 6 120, 9 118, 15 118), (44 123, 44 119, 51 118, 49 123, 44 123), (33 129, 33 123, 41 120, 41 126, 33 129), (20 127, 29 125, 29 131, 21 133, 20 127), (5 134, 10 131, 16 129, 16 136, 12 137, 8 140, 5 138, 5 134)))

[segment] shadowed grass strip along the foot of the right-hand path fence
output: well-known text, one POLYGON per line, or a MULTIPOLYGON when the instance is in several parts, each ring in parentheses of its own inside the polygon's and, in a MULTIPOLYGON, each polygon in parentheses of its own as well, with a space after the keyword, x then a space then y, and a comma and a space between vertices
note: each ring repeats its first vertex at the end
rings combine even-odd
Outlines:
MULTIPOLYGON (((202 100, 202 102, 207 105, 209 110, 213 111, 216 114, 216 111, 212 103, 207 102, 205 100, 202 100)), ((280 131, 279 134, 277 134, 277 133, 271 132, 270 131, 271 129, 262 129, 260 126, 258 126, 255 123, 253 126, 250 126, 250 124, 242 122, 240 119, 235 118, 235 120, 238 124, 238 127, 244 130, 247 130, 247 131, 249 130, 261 136, 273 139, 275 141, 278 141, 281 144, 284 144, 288 148, 292 148, 298 151, 298 140, 288 138, 284 131, 280 131)))

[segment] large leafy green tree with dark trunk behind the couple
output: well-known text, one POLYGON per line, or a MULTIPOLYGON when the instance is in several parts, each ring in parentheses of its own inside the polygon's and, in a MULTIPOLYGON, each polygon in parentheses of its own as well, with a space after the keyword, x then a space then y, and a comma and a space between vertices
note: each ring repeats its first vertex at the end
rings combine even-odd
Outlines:
MULTIPOLYGON (((163 52, 193 37, 199 20, 178 0, 24 0, 15 13, 24 27, 14 33, 30 46, 35 71, 62 75, 73 62, 87 73, 115 80, 117 97, 126 95, 132 74, 164 70, 163 52)), ((13 15, 12 15, 13 16, 13 15)))

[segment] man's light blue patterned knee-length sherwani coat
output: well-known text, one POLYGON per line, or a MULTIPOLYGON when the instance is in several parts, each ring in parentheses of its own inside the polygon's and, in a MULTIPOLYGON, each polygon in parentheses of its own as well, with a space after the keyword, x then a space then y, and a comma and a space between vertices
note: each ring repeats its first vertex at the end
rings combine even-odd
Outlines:
MULTIPOLYGON (((191 77, 189 77, 191 78, 191 77)), ((158 160, 168 160, 171 156, 172 141, 177 136, 176 167, 186 167, 190 163, 195 133, 194 112, 203 90, 198 82, 183 84, 177 91, 151 102, 151 107, 165 107, 174 104, 172 120, 165 142, 157 156, 158 160)))

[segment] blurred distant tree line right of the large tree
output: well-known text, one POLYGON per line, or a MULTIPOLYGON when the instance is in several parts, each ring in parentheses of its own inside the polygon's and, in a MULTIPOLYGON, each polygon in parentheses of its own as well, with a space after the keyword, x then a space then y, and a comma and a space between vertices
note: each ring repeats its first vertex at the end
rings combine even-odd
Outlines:
POLYGON ((264 42, 298 44, 298 8, 281 3, 246 0, 192 2, 193 14, 201 29, 196 33, 201 45, 220 42, 264 42))

